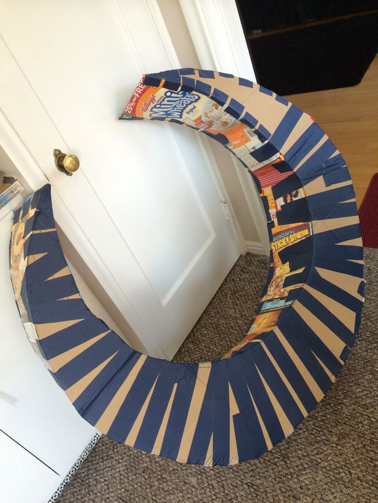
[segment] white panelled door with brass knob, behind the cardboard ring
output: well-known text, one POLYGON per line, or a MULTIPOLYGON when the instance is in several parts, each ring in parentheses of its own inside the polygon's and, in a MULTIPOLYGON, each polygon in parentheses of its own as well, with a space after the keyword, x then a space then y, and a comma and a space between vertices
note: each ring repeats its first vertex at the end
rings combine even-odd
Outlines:
POLYGON ((199 135, 118 120, 142 73, 178 65, 156 0, 3 0, 0 35, 0 108, 33 157, 28 181, 48 178, 130 342, 171 358, 240 252, 199 135), (79 171, 59 172, 54 148, 79 171))

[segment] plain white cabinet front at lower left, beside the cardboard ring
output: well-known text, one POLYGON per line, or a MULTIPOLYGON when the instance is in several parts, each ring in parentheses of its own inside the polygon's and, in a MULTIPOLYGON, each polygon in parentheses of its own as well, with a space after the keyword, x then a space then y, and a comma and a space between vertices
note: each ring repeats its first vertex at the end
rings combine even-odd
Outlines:
POLYGON ((0 430, 9 435, 0 431, 0 501, 34 503, 48 500, 96 430, 26 337, 9 276, 11 225, 8 213, 0 220, 0 430))

